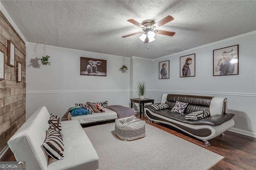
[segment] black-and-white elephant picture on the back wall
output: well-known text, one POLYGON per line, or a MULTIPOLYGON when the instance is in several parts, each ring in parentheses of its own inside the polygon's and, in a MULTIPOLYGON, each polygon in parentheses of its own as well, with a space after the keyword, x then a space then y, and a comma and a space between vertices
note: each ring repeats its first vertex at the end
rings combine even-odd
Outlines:
POLYGON ((80 75, 107 76, 107 61, 80 57, 80 75))

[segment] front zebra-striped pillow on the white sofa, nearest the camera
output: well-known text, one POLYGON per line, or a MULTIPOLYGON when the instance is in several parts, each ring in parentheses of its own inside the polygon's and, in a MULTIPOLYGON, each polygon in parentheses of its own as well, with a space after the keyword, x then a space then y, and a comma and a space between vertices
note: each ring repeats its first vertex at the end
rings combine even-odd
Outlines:
POLYGON ((46 140, 43 143, 45 152, 54 159, 62 160, 64 157, 63 135, 59 129, 50 125, 46 140))

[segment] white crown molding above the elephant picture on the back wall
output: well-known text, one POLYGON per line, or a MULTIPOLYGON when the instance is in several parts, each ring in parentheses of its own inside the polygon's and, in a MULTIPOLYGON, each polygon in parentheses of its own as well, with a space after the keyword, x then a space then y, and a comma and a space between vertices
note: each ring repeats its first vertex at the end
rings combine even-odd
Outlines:
MULTIPOLYGON (((28 45, 35 45, 39 47, 44 47, 44 44, 40 43, 32 43, 32 42, 27 42, 28 45)), ((52 48, 52 49, 61 49, 61 50, 68 50, 68 51, 75 51, 75 52, 81 52, 81 53, 90 53, 90 54, 96 54, 96 55, 104 55, 108 57, 118 57, 118 58, 123 58, 123 56, 119 55, 110 55, 110 54, 104 54, 104 53, 96 53, 96 52, 91 52, 91 51, 84 51, 84 50, 78 50, 78 49, 69 49, 65 47, 57 47, 53 45, 45 45, 47 48, 52 48)), ((125 57, 126 59, 130 60, 130 57, 125 57)))

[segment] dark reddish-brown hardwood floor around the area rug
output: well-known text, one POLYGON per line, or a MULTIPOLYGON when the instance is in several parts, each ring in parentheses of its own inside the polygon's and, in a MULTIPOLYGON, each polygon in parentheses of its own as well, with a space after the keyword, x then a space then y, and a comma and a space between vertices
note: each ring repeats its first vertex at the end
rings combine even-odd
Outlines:
MULTIPOLYGON (((139 117, 139 115, 136 114, 136 117, 139 117)), ((148 118, 145 115, 143 115, 141 119, 145 120, 146 123, 154 127, 162 129, 168 133, 171 133, 172 135, 224 156, 225 158, 213 166, 211 170, 256 170, 256 139, 253 137, 226 131, 224 133, 225 136, 218 136, 209 140, 211 145, 207 146, 202 141, 195 139, 194 137, 187 135, 186 133, 172 126, 156 122, 149 123, 148 118)), ((114 121, 110 121, 108 123, 112 122, 114 121)), ((83 127, 99 124, 102 123, 83 125, 83 127)), ((12 154, 11 150, 8 149, 0 161, 16 160, 14 158, 14 154, 12 154)))

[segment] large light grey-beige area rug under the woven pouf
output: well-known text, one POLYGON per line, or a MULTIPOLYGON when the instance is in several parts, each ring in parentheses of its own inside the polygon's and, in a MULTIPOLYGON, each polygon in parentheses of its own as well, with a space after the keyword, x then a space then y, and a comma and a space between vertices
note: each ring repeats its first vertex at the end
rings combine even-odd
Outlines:
POLYGON ((115 124, 84 128, 100 158, 99 170, 207 170, 224 157, 146 124, 146 137, 122 141, 115 124))

